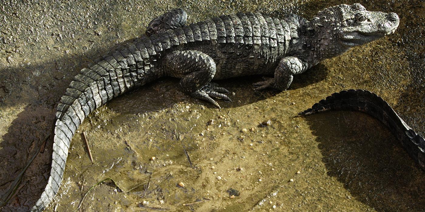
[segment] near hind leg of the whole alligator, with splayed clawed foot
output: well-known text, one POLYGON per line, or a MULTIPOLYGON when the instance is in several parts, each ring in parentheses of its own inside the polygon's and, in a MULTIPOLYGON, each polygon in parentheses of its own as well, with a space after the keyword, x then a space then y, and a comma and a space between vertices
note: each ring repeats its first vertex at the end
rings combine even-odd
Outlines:
POLYGON ((210 81, 215 74, 214 60, 196 50, 175 51, 168 54, 164 60, 167 75, 181 78, 179 86, 192 97, 205 100, 220 108, 212 98, 232 101, 227 95, 227 89, 218 87, 210 81))

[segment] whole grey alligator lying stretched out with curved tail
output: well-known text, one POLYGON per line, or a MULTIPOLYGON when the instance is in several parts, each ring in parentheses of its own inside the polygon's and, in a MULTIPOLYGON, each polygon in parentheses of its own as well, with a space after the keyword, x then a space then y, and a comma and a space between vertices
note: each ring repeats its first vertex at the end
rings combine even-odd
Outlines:
POLYGON ((394 33, 395 13, 367 11, 362 5, 333 6, 311 21, 295 14, 282 18, 259 13, 222 15, 186 25, 184 10, 154 18, 146 32, 75 76, 57 106, 48 183, 31 211, 42 211, 59 190, 71 139, 83 120, 112 98, 163 76, 181 78, 179 88, 194 98, 220 105, 227 89, 211 80, 273 75, 255 90, 286 90, 293 75, 315 64, 394 33))

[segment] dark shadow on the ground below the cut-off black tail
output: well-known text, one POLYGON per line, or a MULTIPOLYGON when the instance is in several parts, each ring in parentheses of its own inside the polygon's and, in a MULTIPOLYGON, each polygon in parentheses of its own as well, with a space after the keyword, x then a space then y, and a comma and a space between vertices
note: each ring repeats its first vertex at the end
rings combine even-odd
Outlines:
POLYGON ((424 171, 378 120, 360 112, 306 116, 327 174, 378 211, 422 211, 424 171), (377 134, 376 132, 383 132, 377 134))

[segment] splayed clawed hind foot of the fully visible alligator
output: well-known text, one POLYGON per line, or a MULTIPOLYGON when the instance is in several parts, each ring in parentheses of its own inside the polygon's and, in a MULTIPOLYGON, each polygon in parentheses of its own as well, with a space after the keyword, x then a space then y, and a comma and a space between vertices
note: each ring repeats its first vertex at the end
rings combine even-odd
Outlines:
POLYGON ((207 85, 202 86, 200 89, 193 92, 191 95, 194 98, 207 101, 213 104, 214 106, 216 106, 217 108, 221 108, 220 105, 212 98, 219 98, 224 101, 231 102, 232 100, 227 95, 222 94, 222 93, 228 93, 228 92, 229 91, 227 89, 219 87, 215 83, 209 82, 207 83, 207 85))

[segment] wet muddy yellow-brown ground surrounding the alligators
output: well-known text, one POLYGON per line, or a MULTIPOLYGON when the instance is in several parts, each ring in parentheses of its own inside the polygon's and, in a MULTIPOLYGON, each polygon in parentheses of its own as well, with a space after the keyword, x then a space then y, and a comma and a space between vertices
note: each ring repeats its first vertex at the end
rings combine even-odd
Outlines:
MULTIPOLYGON (((0 3, 0 194, 48 134, 74 75, 138 36, 152 17, 181 7, 189 22, 238 11, 311 18, 317 9, 360 2, 368 10, 396 12, 396 33, 297 75, 286 92, 253 92, 260 77, 219 81, 235 95, 215 109, 176 90, 178 80, 164 78, 97 109, 79 128, 94 164, 77 134, 47 211, 75 210, 86 193, 79 210, 425 210, 424 172, 377 120, 356 112, 295 116, 332 92, 362 88, 425 132, 424 1, 272 2, 0 3), (266 120, 272 125, 261 127, 266 120), (229 188, 240 195, 229 198, 229 188), (182 205, 196 201, 203 202, 182 205)), ((34 205, 46 184, 51 146, 3 211, 34 205)))

